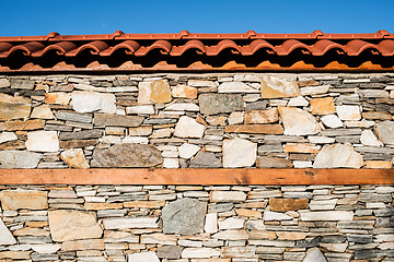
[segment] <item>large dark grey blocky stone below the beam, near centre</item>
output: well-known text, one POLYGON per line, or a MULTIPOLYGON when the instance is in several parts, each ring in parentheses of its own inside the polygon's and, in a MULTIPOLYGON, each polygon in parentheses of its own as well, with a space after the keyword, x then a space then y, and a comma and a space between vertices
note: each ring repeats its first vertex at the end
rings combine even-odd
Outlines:
POLYGON ((202 233, 207 203, 195 199, 176 200, 162 210, 163 233, 194 235, 202 233))

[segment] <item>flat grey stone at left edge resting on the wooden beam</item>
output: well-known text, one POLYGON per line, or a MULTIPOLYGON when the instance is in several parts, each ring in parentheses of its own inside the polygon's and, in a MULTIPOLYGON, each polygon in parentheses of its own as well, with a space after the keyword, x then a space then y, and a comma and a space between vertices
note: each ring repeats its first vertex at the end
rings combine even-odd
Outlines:
POLYGON ((0 151, 0 168, 36 168, 43 155, 25 151, 0 151))

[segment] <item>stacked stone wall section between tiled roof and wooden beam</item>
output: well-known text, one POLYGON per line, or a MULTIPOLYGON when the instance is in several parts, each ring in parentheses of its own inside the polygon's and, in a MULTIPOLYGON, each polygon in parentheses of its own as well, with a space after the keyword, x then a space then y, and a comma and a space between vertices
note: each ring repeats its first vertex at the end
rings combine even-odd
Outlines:
POLYGON ((394 74, 0 78, 1 168, 392 168, 394 74))

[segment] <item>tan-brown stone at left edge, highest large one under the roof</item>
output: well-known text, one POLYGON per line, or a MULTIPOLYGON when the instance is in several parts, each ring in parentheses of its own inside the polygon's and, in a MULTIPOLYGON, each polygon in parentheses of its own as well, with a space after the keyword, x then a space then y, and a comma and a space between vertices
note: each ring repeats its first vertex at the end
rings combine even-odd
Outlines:
POLYGON ((0 93, 0 121, 27 118, 30 112, 31 102, 28 99, 0 93))

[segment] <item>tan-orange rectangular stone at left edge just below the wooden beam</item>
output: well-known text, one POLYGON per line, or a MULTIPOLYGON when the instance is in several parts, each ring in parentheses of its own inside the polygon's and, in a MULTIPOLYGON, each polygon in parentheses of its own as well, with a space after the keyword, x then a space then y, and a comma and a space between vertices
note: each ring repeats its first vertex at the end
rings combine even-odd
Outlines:
POLYGON ((36 190, 3 190, 0 192, 4 211, 45 210, 48 207, 47 192, 36 190))

